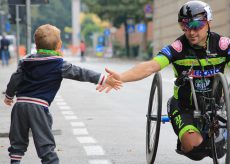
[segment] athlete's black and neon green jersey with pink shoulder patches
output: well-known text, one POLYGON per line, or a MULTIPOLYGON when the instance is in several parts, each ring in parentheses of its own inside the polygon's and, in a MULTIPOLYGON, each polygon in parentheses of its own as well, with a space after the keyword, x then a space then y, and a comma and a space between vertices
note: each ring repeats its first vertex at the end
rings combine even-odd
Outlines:
MULTIPOLYGON (((225 66, 230 63, 230 39, 211 32, 207 47, 203 48, 190 45, 185 35, 182 35, 164 47, 153 60, 160 64, 161 69, 172 63, 176 78, 192 68, 191 76, 197 95, 208 93, 211 91, 214 74, 224 73, 225 66)), ((175 85, 174 97, 182 107, 192 107, 189 82, 175 85)))

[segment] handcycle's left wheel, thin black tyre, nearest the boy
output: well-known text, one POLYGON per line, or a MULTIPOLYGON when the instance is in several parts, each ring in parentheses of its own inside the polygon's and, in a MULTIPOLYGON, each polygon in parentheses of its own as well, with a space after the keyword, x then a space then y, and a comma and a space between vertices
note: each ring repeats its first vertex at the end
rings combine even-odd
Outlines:
POLYGON ((153 77, 146 125, 146 158, 148 164, 153 164, 156 158, 161 126, 162 111, 162 79, 161 74, 153 77))

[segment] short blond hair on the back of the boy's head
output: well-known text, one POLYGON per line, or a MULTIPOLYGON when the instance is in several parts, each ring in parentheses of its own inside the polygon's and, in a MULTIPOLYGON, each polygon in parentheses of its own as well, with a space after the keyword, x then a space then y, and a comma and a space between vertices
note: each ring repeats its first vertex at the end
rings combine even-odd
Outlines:
POLYGON ((56 50, 61 41, 61 31, 50 24, 39 26, 34 33, 37 49, 56 50))

